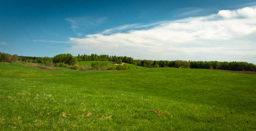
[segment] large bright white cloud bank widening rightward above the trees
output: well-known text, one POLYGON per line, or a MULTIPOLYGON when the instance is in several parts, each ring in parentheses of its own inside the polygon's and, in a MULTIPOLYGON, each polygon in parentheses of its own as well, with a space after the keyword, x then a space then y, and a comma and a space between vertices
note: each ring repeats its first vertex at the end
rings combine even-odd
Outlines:
POLYGON ((247 61, 256 63, 256 7, 153 24, 128 24, 70 38, 73 53, 136 59, 247 61), (142 26, 150 27, 141 29, 142 26), (118 30, 131 29, 126 33, 118 30))

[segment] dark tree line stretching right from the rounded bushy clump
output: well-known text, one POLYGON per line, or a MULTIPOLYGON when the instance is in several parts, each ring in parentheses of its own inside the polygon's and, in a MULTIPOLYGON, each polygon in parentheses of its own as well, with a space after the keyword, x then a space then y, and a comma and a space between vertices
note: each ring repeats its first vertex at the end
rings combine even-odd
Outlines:
POLYGON ((240 71, 256 71, 256 65, 248 62, 218 62, 218 61, 183 61, 183 60, 140 60, 133 59, 127 56, 116 55, 78 55, 78 61, 110 61, 110 62, 125 62, 143 67, 175 67, 175 68, 196 68, 196 69, 226 69, 240 71))

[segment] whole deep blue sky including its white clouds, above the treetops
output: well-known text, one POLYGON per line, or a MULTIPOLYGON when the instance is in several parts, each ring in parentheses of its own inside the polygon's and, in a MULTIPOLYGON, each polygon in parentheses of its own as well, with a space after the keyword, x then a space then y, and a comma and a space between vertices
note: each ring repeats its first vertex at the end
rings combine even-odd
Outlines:
POLYGON ((255 5, 255 0, 0 0, 0 52, 256 63, 255 5))

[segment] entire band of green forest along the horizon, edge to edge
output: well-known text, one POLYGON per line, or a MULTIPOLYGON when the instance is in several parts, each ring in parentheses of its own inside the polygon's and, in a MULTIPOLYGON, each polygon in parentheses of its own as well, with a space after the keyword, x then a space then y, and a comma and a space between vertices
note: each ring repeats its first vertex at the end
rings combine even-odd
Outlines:
MULTIPOLYGON (((133 59, 127 56, 116 55, 78 55, 72 56, 71 54, 59 54, 53 58, 49 57, 30 57, 30 56, 18 56, 10 55, 0 52, 1 62, 29 62, 29 63, 41 63, 47 66, 72 66, 72 69, 78 68, 78 61, 110 61, 116 63, 129 63, 136 66, 143 67, 175 67, 175 68, 197 68, 197 69, 227 69, 227 70, 244 70, 244 71, 256 71, 256 65, 248 62, 218 62, 218 61, 167 61, 167 60, 140 60, 133 59)), ((117 69, 128 69, 125 66, 119 66, 117 69)))

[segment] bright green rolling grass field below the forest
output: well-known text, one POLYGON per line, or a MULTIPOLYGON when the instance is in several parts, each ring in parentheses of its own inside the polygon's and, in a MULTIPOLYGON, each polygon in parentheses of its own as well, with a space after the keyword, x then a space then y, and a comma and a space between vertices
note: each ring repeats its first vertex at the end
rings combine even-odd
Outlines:
POLYGON ((0 130, 256 130, 256 75, 134 67, 0 63, 0 130))

